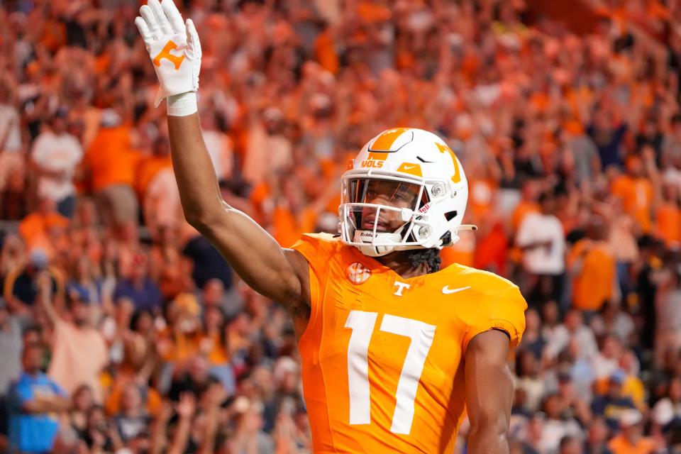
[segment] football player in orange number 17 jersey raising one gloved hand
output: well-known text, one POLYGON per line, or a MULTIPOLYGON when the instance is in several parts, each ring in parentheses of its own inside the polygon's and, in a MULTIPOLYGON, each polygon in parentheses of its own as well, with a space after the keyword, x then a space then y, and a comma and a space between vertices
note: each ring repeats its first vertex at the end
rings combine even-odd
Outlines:
MULTIPOLYGON (((441 269, 440 251, 475 230, 463 224, 468 184, 453 150, 421 129, 378 133, 341 178, 338 236, 282 248, 221 197, 197 115, 194 23, 172 0, 149 0, 135 24, 167 101, 187 221, 292 316, 314 452, 450 453, 466 409, 467 451, 508 453, 507 358, 527 305, 502 277, 441 269)), ((316 102, 330 121, 333 105, 316 102)))

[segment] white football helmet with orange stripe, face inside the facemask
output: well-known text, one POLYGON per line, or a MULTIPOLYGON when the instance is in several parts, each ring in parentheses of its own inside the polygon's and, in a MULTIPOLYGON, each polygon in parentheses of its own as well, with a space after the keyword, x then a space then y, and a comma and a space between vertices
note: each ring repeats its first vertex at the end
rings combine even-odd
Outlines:
POLYGON ((348 163, 339 207, 341 240, 378 257, 456 243, 468 183, 454 152, 433 133, 383 131, 348 163), (390 221, 388 221, 390 220, 390 221))

